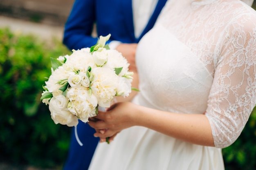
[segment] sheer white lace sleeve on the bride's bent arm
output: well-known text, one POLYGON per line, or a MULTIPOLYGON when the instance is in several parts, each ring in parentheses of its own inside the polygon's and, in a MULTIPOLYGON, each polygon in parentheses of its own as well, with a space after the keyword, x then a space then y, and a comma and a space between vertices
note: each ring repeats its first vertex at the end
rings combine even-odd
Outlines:
POLYGON ((234 143, 256 104, 255 23, 255 17, 237 17, 220 36, 221 53, 206 112, 217 148, 234 143))

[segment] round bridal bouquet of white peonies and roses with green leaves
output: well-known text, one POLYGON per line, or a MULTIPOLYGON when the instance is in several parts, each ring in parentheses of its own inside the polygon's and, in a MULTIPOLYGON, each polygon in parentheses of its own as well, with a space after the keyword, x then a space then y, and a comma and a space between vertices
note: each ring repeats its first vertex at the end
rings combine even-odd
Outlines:
POLYGON ((99 107, 110 107, 115 96, 131 92, 133 72, 121 53, 109 49, 109 38, 100 36, 91 48, 51 58, 52 74, 40 99, 49 105, 55 124, 76 126, 78 119, 86 123, 99 107))

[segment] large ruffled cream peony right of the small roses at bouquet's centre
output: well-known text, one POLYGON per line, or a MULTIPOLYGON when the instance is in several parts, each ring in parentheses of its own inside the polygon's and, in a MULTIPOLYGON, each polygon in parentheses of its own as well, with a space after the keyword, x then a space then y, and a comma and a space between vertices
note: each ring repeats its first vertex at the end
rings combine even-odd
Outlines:
POLYGON ((115 71, 104 67, 92 69, 91 75, 94 76, 91 83, 92 93, 97 97, 99 106, 110 107, 117 91, 119 77, 115 71))

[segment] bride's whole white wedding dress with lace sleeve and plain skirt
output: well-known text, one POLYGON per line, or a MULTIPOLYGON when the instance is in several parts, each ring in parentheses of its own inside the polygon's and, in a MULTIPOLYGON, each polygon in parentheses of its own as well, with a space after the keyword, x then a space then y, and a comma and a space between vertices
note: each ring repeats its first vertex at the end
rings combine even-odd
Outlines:
POLYGON ((240 135, 256 103, 256 12, 239 0, 168 0, 139 42, 132 102, 205 114, 216 147, 144 127, 100 143, 90 170, 224 170, 221 148, 240 135))

